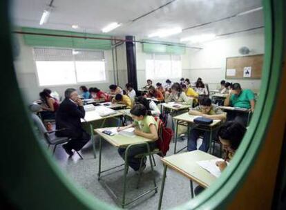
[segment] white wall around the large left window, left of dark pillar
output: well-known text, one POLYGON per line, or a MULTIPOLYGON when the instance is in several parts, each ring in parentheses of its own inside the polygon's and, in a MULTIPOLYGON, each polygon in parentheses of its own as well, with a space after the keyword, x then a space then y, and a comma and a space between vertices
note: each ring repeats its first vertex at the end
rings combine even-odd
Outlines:
MULTIPOLYGON (((37 82, 36 75, 36 65, 33 59, 33 50, 31 46, 26 46, 23 41, 23 37, 19 35, 19 57, 15 59, 15 70, 17 73, 19 86, 22 90, 23 95, 26 97, 27 102, 31 102, 39 98, 39 92, 43 90, 44 86, 39 86, 37 82)), ((102 90, 108 90, 110 84, 114 84, 113 77, 113 59, 111 50, 104 51, 104 57, 106 61, 106 72, 107 72, 107 81, 104 83, 94 83, 86 84, 88 87, 97 87, 102 90)), ((117 62, 118 62, 118 75, 119 75, 119 84, 124 86, 127 81, 127 70, 126 70, 126 53, 125 53, 125 44, 117 48, 117 62)), ((48 86, 51 90, 57 91, 59 95, 64 96, 64 90, 66 88, 79 88, 78 85, 68 85, 68 86, 48 86)))

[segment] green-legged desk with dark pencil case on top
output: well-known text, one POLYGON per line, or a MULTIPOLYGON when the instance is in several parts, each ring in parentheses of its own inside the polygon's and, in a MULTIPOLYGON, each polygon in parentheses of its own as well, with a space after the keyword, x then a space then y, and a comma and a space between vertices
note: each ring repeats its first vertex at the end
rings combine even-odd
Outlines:
MULTIPOLYGON (((187 126, 188 131, 187 131, 187 135, 189 135, 189 131, 190 129, 196 128, 202 131, 209 131, 210 135, 209 135, 209 148, 211 148, 211 140, 213 138, 213 131, 216 130, 216 128, 218 128, 218 126, 220 126, 221 121, 220 120, 213 120, 213 123, 209 124, 209 125, 200 125, 200 124, 196 124, 193 122, 193 120, 199 116, 194 116, 194 115, 189 115, 189 113, 184 113, 182 115, 178 115, 173 117, 173 120, 175 121, 175 146, 174 146, 174 154, 177 153, 177 135, 178 135, 178 126, 187 126)), ((187 146, 185 146, 184 148, 180 149, 180 151, 182 151, 183 149, 185 149, 187 146)), ((178 152, 180 152, 178 151, 178 152)))

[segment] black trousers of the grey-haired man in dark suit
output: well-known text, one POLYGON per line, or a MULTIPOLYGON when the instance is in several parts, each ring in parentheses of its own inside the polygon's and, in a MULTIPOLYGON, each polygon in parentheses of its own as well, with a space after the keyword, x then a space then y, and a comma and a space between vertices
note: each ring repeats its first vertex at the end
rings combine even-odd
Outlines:
POLYGON ((66 144, 68 149, 79 151, 90 140, 90 135, 84 129, 66 129, 56 134, 59 137, 69 137, 71 140, 66 144))

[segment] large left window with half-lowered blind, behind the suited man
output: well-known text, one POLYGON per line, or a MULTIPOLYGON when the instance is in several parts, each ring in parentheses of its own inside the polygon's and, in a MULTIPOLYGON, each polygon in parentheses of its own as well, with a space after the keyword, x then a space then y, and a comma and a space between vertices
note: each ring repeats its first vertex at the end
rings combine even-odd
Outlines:
POLYGON ((39 86, 106 81, 104 52, 34 48, 39 86))

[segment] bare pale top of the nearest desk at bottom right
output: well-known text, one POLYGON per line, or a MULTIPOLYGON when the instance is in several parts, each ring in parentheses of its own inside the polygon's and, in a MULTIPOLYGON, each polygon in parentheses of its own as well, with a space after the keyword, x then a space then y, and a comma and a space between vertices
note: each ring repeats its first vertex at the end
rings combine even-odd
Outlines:
POLYGON ((196 162, 200 160, 218 159, 216 156, 196 150, 188 153, 180 153, 162 158, 162 162, 171 169, 184 175, 186 178, 197 182, 202 187, 209 187, 216 181, 216 177, 203 169, 196 162))

